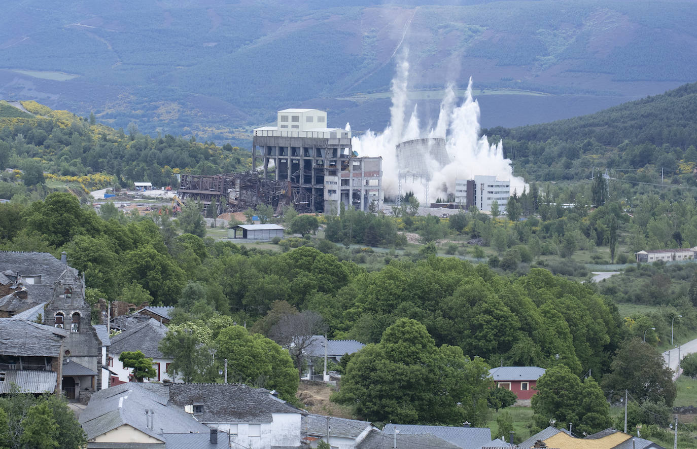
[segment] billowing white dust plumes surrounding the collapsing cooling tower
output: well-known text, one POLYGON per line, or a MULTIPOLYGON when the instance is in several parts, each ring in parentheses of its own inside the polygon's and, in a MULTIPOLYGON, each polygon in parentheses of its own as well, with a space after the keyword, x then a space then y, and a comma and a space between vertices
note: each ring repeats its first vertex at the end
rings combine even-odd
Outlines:
POLYGON ((428 160, 429 173, 434 173, 429 182, 418 178, 402 180, 402 194, 413 191, 419 200, 433 202, 436 198, 453 193, 456 179, 473 179, 475 175, 495 175, 498 180, 510 180, 511 191, 520 194, 525 182, 513 176, 510 159, 503 157, 503 143, 489 145, 487 136, 479 137, 480 107, 472 97, 470 78, 463 102, 456 107, 456 95, 452 84, 445 88, 436 127, 421 129, 414 107, 406 121, 406 104, 409 64, 404 51, 397 62, 397 72, 392 79, 392 107, 390 124, 381 133, 368 131, 362 136, 353 137, 353 149, 360 156, 383 157, 383 189, 388 196, 398 193, 398 167, 396 147, 403 141, 426 137, 446 139, 446 149, 450 163, 443 168, 438 162, 428 160), (404 123, 406 122, 406 127, 404 123), (427 195, 428 193, 428 195, 427 195), (427 198, 428 196, 428 198, 427 198))

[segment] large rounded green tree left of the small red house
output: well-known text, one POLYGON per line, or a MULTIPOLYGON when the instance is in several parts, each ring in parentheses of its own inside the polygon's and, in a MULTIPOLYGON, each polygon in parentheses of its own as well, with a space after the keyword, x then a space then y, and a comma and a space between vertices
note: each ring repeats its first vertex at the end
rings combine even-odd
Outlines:
POLYGON ((378 344, 353 354, 332 400, 369 420, 481 425, 488 368, 481 359, 469 361, 459 347, 436 347, 422 324, 401 318, 378 344))

